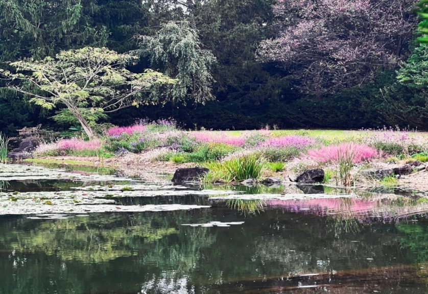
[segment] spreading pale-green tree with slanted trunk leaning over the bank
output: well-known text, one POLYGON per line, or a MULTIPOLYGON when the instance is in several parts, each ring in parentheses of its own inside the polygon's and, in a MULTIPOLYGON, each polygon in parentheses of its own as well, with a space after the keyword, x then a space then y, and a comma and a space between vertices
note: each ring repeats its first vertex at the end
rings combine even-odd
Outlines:
POLYGON ((125 68, 136 60, 105 47, 84 47, 42 60, 12 62, 17 73, 0 73, 10 80, 7 88, 25 94, 36 105, 47 109, 65 105, 91 139, 91 122, 125 107, 156 104, 156 97, 145 92, 154 84, 175 83, 160 72, 148 69, 135 74, 125 68))

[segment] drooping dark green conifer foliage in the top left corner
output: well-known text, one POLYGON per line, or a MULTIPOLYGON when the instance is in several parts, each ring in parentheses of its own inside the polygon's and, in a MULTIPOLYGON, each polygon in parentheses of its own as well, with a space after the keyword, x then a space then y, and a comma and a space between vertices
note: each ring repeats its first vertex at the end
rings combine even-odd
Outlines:
POLYGON ((91 19, 94 1, 52 0, 0 2, 0 61, 44 58, 85 45, 104 46, 108 32, 91 19))

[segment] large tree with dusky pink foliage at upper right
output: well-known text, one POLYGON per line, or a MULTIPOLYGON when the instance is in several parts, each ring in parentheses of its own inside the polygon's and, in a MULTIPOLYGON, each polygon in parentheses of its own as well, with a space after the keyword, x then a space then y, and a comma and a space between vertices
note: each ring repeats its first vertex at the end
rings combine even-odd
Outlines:
POLYGON ((277 37, 262 61, 280 62, 302 91, 321 96, 395 67, 416 28, 415 0, 278 0, 277 37))

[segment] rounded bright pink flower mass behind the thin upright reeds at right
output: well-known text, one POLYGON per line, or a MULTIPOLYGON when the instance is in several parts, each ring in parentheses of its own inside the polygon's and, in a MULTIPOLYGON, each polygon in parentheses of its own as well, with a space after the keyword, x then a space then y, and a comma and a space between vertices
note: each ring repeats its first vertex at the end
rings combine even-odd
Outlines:
POLYGON ((352 163, 362 162, 378 156, 375 149, 367 145, 358 145, 355 143, 343 143, 341 145, 326 146, 321 149, 309 150, 307 155, 316 161, 338 162, 340 155, 346 153, 352 155, 352 163))

